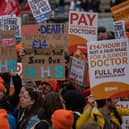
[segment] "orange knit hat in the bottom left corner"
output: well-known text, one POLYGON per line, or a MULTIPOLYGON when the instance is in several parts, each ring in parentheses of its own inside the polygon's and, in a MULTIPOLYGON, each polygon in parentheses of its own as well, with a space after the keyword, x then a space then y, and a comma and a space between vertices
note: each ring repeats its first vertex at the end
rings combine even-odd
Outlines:
POLYGON ((7 116, 6 110, 0 109, 0 129, 10 129, 7 116))

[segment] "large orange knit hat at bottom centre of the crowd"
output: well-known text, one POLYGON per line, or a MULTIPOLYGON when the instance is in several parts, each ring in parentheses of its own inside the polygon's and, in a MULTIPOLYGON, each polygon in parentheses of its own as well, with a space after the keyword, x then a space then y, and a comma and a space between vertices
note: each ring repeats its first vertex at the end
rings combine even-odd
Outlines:
POLYGON ((58 109, 53 113, 51 120, 56 129, 71 129, 74 115, 70 110, 58 109))

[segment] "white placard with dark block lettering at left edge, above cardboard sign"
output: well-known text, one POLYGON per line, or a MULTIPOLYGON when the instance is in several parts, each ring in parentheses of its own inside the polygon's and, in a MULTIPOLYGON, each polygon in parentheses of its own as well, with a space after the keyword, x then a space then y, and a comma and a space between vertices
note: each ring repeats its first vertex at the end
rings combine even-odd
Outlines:
POLYGON ((0 16, 0 30, 16 30, 16 38, 21 38, 21 18, 11 15, 0 16))

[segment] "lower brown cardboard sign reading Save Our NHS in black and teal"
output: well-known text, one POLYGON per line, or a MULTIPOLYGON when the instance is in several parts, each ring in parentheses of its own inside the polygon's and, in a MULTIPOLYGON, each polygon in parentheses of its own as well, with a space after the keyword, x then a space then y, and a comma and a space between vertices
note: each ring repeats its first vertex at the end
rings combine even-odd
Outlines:
POLYGON ((24 80, 64 80, 63 49, 27 49, 23 58, 24 80))

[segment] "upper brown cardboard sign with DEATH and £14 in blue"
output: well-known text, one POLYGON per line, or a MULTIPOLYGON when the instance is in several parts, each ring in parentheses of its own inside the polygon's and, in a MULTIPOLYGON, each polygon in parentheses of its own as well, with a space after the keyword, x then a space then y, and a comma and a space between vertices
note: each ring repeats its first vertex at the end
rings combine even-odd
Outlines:
POLYGON ((67 26, 44 24, 22 26, 22 44, 26 48, 67 48, 67 26))

